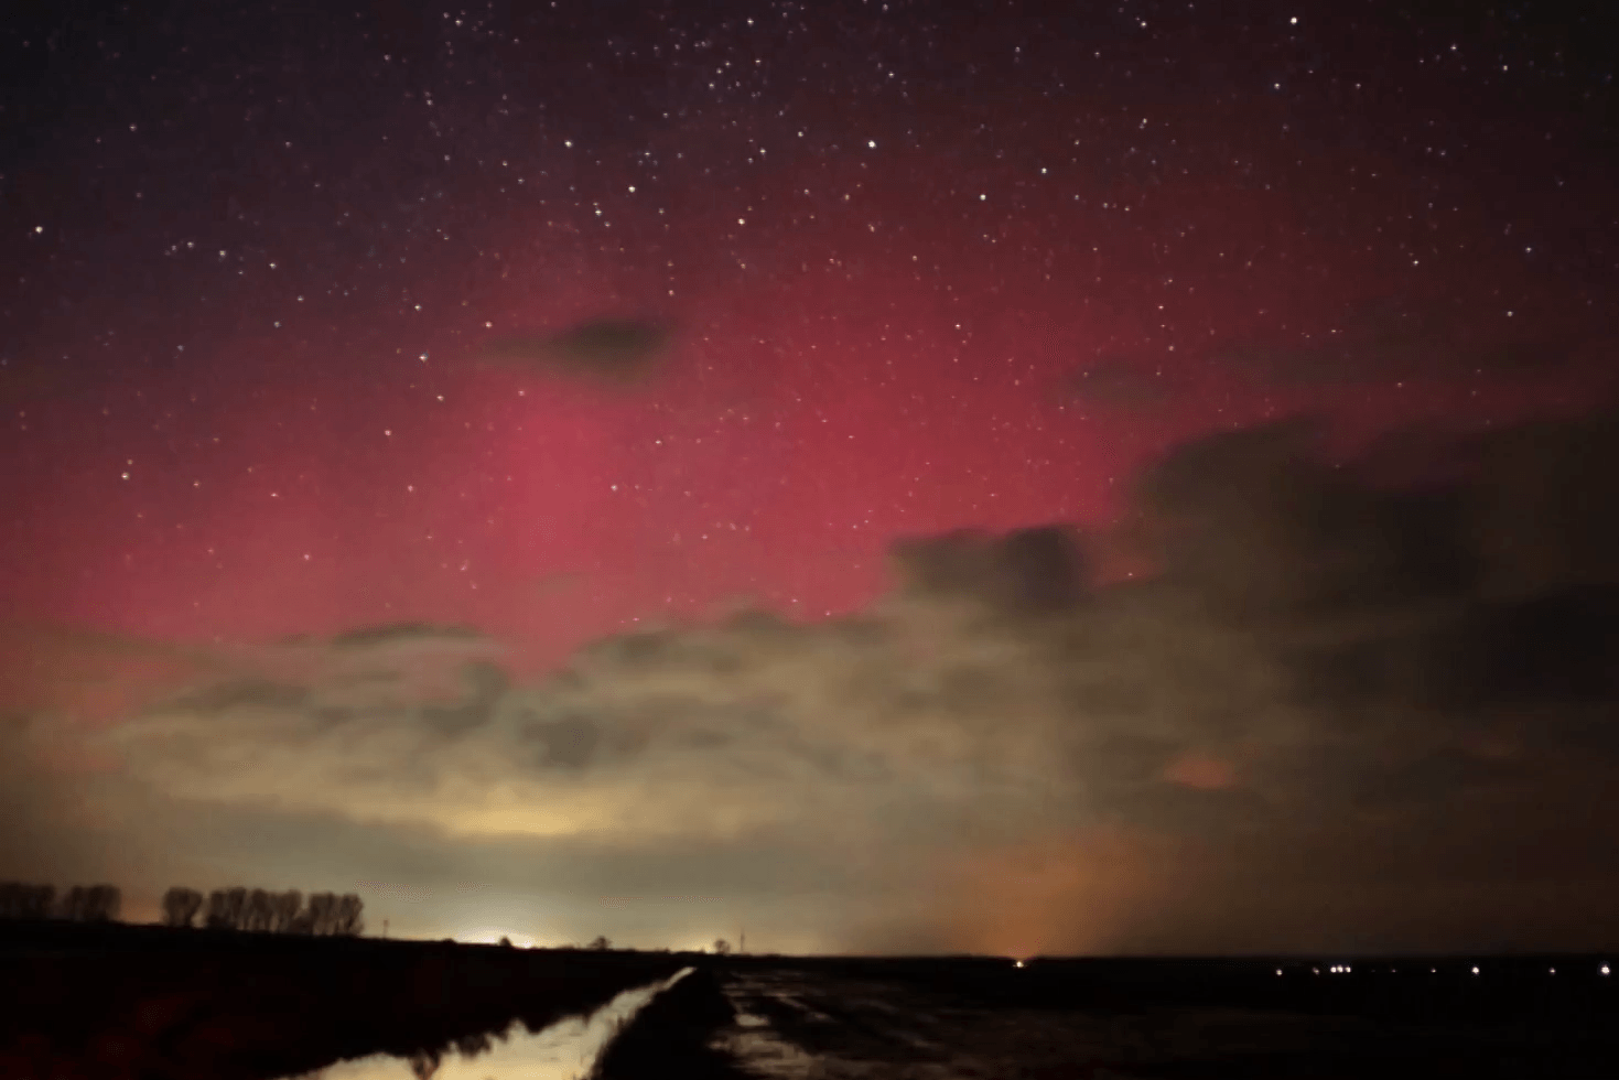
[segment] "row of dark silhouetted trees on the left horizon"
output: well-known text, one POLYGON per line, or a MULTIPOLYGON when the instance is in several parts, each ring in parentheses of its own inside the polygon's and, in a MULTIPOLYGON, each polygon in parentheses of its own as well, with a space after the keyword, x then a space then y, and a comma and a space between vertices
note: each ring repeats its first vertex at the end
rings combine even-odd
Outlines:
MULTIPOLYGON (((55 886, 21 881, 0 882, 0 918, 49 918, 70 923, 110 923, 118 918, 118 886, 73 886, 57 894, 55 886)), ((164 894, 164 926, 244 929, 266 934, 321 934, 358 938, 366 929, 364 902, 353 892, 311 892, 298 889, 214 889, 204 897, 196 889, 175 886, 164 894)))

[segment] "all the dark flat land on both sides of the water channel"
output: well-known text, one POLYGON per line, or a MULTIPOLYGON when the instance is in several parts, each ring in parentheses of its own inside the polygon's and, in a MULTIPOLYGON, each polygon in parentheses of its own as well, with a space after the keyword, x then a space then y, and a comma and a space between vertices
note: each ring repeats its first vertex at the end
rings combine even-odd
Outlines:
MULTIPOLYGON (((491 1038, 538 1031, 688 965, 597 1059, 601 1080, 1619 1077, 1609 962, 1017 968, 8 925, 0 1077, 267 1080, 379 1052, 402 1061, 376 1075, 432 1075, 440 1057, 450 1074, 491 1038)), ((479 1077, 507 1080, 494 1057, 482 1064, 479 1077)))

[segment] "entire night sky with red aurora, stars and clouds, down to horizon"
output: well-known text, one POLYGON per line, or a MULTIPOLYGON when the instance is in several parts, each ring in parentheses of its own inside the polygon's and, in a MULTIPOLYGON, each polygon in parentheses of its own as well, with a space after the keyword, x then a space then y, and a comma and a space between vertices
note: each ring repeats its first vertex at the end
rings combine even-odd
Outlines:
POLYGON ((1421 6, 10 18, 0 874, 1619 946, 1616 28, 1421 6))

